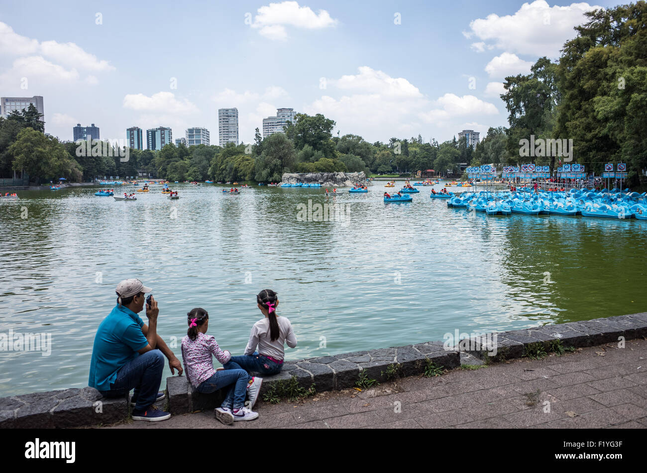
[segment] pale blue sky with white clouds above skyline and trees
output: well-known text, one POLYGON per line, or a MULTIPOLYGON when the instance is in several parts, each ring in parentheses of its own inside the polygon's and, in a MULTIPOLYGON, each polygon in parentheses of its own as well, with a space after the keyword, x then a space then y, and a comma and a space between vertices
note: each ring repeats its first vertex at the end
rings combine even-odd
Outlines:
POLYGON ((371 142, 505 125, 506 75, 558 57, 582 12, 519 1, 3 2, 0 96, 42 95, 45 131, 203 126, 237 107, 240 138, 277 107, 371 142))

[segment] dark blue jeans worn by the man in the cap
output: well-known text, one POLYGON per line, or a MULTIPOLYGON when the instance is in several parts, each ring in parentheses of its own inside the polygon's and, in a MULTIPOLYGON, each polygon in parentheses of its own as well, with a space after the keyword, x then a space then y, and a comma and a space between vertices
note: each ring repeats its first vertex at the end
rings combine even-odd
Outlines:
POLYGON ((117 371, 115 382, 109 391, 99 391, 105 397, 122 397, 135 388, 133 397, 137 398, 135 410, 145 411, 157 399, 162 384, 164 355, 159 350, 151 350, 127 362, 117 371))

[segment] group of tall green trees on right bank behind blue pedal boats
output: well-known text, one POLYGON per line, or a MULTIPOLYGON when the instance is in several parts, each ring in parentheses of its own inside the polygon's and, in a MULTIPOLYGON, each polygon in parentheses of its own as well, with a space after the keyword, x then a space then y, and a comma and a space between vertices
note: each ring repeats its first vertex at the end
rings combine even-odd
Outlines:
POLYGON ((478 164, 549 164, 521 158, 520 140, 573 140, 573 162, 600 175, 605 163, 627 164, 628 184, 647 185, 647 3, 586 13, 556 62, 540 58, 530 74, 505 78, 501 99, 509 127, 490 128, 477 144, 478 164))

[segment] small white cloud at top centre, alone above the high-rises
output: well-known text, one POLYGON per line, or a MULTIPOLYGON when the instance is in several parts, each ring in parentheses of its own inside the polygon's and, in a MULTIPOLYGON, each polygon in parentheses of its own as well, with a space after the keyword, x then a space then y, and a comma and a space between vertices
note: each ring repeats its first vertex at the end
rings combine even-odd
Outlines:
POLYGON ((270 3, 257 12, 252 28, 259 28, 259 33, 269 39, 287 39, 285 26, 312 30, 334 27, 338 23, 326 10, 314 13, 309 6, 299 6, 296 1, 270 3))

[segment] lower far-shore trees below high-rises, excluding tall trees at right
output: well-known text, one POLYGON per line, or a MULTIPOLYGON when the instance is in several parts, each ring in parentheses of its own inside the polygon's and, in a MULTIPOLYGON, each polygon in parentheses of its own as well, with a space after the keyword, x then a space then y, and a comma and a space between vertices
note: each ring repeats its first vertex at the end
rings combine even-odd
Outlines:
POLYGON ((335 122, 321 114, 303 113, 288 122, 284 133, 262 138, 256 129, 253 144, 221 146, 167 144, 158 151, 128 149, 105 142, 60 142, 43 134, 38 111, 30 105, 0 118, 0 176, 25 171, 36 181, 91 181, 102 177, 136 177, 146 171, 169 181, 281 181, 285 172, 364 171, 410 173, 434 169, 459 173, 472 148, 455 137, 442 144, 417 138, 391 138, 369 143, 358 135, 333 137, 335 122), (102 153, 89 152, 100 147, 102 153), (82 148, 83 153, 78 149, 82 148), (106 153, 105 150, 109 152, 106 153), (88 152, 85 152, 87 150, 88 152), (121 152, 120 152, 121 151, 121 152), (121 156, 121 157, 120 157, 121 156))

